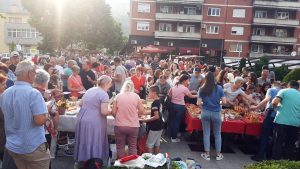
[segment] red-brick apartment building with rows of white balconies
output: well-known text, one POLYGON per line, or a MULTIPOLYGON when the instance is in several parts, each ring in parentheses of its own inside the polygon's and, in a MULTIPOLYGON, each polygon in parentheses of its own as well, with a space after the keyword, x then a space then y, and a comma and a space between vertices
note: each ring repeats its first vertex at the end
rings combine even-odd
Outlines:
POLYGON ((260 57, 300 53, 298 0, 131 0, 129 43, 170 53, 260 57), (299 45, 298 45, 299 44, 299 45))

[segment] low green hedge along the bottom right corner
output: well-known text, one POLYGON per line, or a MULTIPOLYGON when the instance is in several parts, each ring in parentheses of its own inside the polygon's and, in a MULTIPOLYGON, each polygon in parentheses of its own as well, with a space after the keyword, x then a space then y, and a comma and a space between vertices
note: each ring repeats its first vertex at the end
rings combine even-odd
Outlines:
POLYGON ((255 164, 250 164, 244 169, 299 169, 300 161, 263 161, 255 164))

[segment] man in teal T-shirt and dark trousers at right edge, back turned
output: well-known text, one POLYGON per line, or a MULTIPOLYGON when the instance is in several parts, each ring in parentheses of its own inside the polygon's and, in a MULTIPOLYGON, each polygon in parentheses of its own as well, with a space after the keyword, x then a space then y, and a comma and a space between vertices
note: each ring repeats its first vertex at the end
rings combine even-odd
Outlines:
POLYGON ((300 91, 299 83, 292 80, 287 89, 278 92, 272 101, 273 106, 278 106, 274 120, 274 144, 272 158, 282 159, 282 145, 285 143, 285 150, 288 159, 293 158, 293 150, 297 141, 300 127, 300 91))

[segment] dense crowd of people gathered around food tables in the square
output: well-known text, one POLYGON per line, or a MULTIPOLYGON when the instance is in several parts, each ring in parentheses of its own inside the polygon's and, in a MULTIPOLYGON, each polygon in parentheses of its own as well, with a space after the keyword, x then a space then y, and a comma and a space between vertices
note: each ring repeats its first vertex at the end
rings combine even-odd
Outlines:
POLYGON ((20 61, 18 52, 0 62, 0 151, 3 169, 46 169, 50 166, 49 144, 57 136, 59 113, 54 103, 64 97, 81 99, 76 126, 74 159, 109 158, 107 116, 115 118, 117 157, 137 154, 140 123, 147 123, 146 146, 158 153, 162 131, 167 128, 172 143, 180 142, 185 105, 201 107, 203 141, 210 160, 211 126, 215 137, 216 160, 221 154, 221 108, 239 105, 260 111, 265 119, 260 150, 254 160, 266 159, 272 136, 272 158, 287 157, 295 146, 300 126, 299 81, 276 81, 275 74, 263 66, 260 77, 248 68, 233 70, 201 64, 199 60, 163 60, 106 57, 101 54, 35 56, 20 61), (166 97, 171 107, 167 125, 162 119, 166 97), (151 99, 150 118, 142 99, 151 99), (112 102, 112 104, 110 104, 112 102), (167 126, 167 127, 165 127, 167 126), (5 129, 5 130, 3 130, 5 129), (274 131, 274 132, 273 132, 274 131), (273 135, 274 133, 274 135, 273 135), (284 143, 284 144, 283 144, 284 143), (128 144, 128 153, 125 145, 128 144))

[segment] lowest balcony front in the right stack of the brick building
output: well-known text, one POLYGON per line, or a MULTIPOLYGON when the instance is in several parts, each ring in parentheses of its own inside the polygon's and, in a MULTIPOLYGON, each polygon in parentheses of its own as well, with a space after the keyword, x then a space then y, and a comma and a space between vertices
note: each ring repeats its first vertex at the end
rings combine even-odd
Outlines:
POLYGON ((277 43, 277 44, 295 44, 297 39, 294 37, 276 37, 276 36, 259 36, 252 35, 251 42, 260 43, 277 43))

